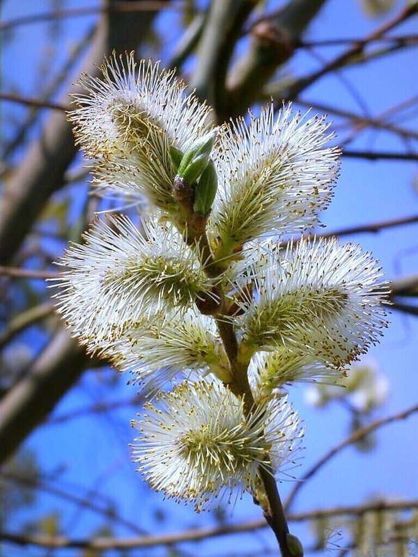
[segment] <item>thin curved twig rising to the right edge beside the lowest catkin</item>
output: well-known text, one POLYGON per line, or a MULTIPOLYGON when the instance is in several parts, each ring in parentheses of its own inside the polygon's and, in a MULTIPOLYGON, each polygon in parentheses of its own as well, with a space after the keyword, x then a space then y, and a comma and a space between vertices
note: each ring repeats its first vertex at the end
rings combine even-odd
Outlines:
POLYGON ((379 427, 382 427, 383 425, 389 425, 389 423, 393 423, 394 421, 405 420, 405 418, 408 418, 408 416, 410 416, 411 414, 415 414, 415 412, 417 411, 418 411, 418 405, 414 405, 404 411, 398 412, 396 414, 392 414, 392 416, 387 416, 386 418, 380 418, 378 420, 375 420, 372 423, 369 423, 369 425, 360 427, 354 433, 350 434, 348 437, 346 437, 346 439, 341 441, 341 443, 334 446, 331 450, 325 453, 325 455, 323 455, 323 457, 321 457, 318 460, 318 462, 314 464, 314 466, 311 466, 311 468, 307 471, 307 473, 305 473, 302 480, 300 480, 300 482, 298 482, 295 485, 295 487, 293 487, 291 493, 286 499, 286 503, 284 505, 285 510, 288 510, 291 507, 293 501, 295 500, 295 496, 300 491, 300 489, 302 489, 302 486, 306 485, 307 480, 309 480, 309 478, 314 476, 325 464, 330 462, 330 460, 332 460, 332 458, 335 455, 340 453, 341 450, 343 450, 343 448, 346 448, 349 445, 356 443, 360 439, 364 439, 364 437, 369 435, 371 432, 377 430, 379 427))

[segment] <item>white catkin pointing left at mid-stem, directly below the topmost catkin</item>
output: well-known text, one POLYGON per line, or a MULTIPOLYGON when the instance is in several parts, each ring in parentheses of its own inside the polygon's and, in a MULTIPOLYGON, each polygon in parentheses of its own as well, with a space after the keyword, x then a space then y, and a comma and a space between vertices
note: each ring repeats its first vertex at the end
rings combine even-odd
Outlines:
POLYGON ((61 259, 67 270, 57 280, 57 308, 90 350, 147 313, 184 312, 212 292, 199 257, 176 228, 151 217, 142 225, 144 235, 127 217, 96 221, 86 242, 70 246, 61 259))

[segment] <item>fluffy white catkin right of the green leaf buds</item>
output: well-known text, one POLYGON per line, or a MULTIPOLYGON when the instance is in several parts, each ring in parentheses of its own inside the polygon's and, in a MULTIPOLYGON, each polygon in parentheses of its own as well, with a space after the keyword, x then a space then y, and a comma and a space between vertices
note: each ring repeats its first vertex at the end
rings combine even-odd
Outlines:
POLYGON ((210 231, 217 258, 236 246, 274 233, 295 233, 318 221, 332 197, 339 149, 326 147, 332 134, 324 118, 300 118, 291 105, 274 116, 273 106, 221 128, 215 166, 220 195, 210 231))

